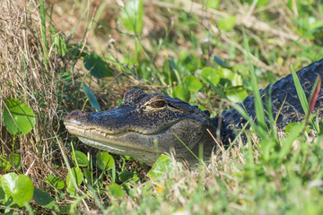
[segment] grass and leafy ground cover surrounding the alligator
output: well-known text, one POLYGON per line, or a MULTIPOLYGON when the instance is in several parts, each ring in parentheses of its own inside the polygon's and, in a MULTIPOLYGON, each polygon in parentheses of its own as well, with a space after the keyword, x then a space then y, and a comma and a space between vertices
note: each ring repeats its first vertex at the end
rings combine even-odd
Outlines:
POLYGON ((323 56, 323 6, 252 3, 0 3, 0 212, 321 214, 323 129, 312 122, 315 137, 302 134, 304 125, 281 135, 274 118, 266 127, 258 88, 323 56), (67 112, 114 107, 129 88, 212 116, 252 93, 258 124, 249 121, 247 144, 237 138, 194 169, 162 157, 150 170, 66 133, 67 112), (13 99, 19 117, 8 114, 13 99), (8 129, 20 117, 36 124, 8 129), (32 195, 24 204, 21 196, 32 195))

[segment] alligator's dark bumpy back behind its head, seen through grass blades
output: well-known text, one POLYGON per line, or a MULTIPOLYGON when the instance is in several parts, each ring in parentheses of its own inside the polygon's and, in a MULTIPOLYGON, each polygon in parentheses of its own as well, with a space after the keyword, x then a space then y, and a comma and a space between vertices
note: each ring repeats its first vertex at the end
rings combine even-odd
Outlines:
MULTIPOLYGON (((302 89, 305 91, 306 97, 310 98, 310 93, 314 82, 317 77, 323 78, 323 59, 312 63, 304 68, 302 68, 297 75, 300 79, 302 89)), ((281 80, 270 84, 265 90, 260 90, 260 95, 263 98, 263 103, 265 102, 265 94, 268 95, 268 90, 271 86, 271 99, 272 99, 272 111, 274 118, 276 117, 279 109, 282 107, 279 116, 276 121, 276 126, 278 129, 282 130, 286 125, 291 123, 301 122, 305 116, 304 111, 301 107, 300 99, 292 80, 292 74, 282 78, 281 80)), ((251 118, 255 118, 256 112, 254 107, 254 97, 249 96, 243 100, 241 107, 244 107, 251 118)), ((323 87, 321 86, 319 92, 319 99, 316 103, 315 110, 321 112, 323 109, 323 87)), ((265 106, 266 108, 266 106, 265 106)), ((223 126, 222 126, 222 139, 223 143, 227 144, 234 139, 234 134, 237 128, 241 128, 242 125, 246 123, 246 120, 240 116, 240 113, 232 108, 229 111, 224 111, 222 114, 223 126)), ((319 114, 321 117, 321 114, 319 114)), ((266 116, 266 123, 268 124, 268 117, 266 116)))

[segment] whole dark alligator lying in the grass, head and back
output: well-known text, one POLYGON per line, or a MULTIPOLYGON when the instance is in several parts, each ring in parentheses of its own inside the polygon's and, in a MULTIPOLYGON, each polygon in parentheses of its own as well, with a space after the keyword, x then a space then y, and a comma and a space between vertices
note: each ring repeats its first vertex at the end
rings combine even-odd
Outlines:
MULTIPOLYGON (((317 77, 323 78, 323 59, 302 68, 297 75, 309 99, 317 77)), ((278 131, 304 119, 292 74, 268 85, 265 90, 259 90, 261 97, 264 98, 269 90, 278 131)), ((263 103, 266 107, 265 99, 263 103)), ((255 119, 252 95, 244 99, 240 107, 255 119)), ((323 87, 314 108, 319 120, 322 110, 323 87)), ((203 158, 210 158, 221 142, 232 142, 237 129, 246 123, 247 120, 235 108, 223 111, 221 116, 210 117, 207 111, 188 102, 159 93, 147 94, 139 89, 127 90, 123 102, 117 107, 101 112, 74 110, 64 120, 68 132, 81 142, 100 150, 131 156, 149 166, 153 166, 161 153, 169 153, 170 150, 175 150, 176 159, 187 160, 190 165, 196 163, 201 147, 203 158), (214 138, 220 143, 215 143, 214 138)), ((269 123, 268 116, 266 123, 269 123)))

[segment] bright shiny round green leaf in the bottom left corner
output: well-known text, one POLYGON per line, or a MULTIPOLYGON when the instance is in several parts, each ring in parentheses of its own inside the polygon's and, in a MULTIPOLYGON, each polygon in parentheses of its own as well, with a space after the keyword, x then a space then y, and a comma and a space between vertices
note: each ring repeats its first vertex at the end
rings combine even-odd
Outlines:
POLYGON ((31 178, 15 173, 5 174, 0 178, 0 186, 4 190, 4 201, 13 201, 19 207, 31 201, 34 187, 31 178))

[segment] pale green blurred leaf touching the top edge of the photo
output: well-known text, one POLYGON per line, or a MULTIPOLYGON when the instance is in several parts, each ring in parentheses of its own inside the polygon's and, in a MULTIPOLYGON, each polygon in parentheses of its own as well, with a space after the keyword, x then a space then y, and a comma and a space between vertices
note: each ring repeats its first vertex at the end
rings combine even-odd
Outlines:
POLYGON ((143 30, 144 3, 141 0, 127 2, 124 10, 120 14, 121 22, 127 30, 140 34, 143 30))

